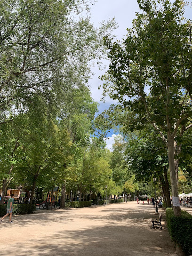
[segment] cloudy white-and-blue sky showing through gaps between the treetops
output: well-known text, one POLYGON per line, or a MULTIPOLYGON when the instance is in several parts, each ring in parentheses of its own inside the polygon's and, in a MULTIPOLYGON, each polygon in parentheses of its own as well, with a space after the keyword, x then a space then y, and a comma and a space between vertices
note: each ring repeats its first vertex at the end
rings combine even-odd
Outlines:
MULTIPOLYGON (((118 24, 118 28, 114 31, 116 38, 121 40, 127 33, 127 28, 132 26, 132 20, 136 17, 136 12, 139 11, 136 0, 97 0, 97 2, 91 8, 91 22, 98 27, 98 24, 103 20, 107 21, 109 18, 115 17, 115 21, 118 24)), ((192 8, 185 8, 185 16, 192 19, 192 8)), ((104 64, 107 67, 108 62, 104 60, 104 64)), ((114 103, 109 97, 105 98, 105 103, 100 99, 102 98, 102 89, 98 89, 102 81, 99 80, 99 76, 104 74, 104 70, 100 71, 96 66, 92 69, 95 73, 93 78, 89 80, 90 90, 94 101, 98 102, 99 113, 108 109, 110 104, 114 103)), ((117 134, 117 133, 116 133, 117 134)), ((107 148, 111 150, 112 143, 114 141, 114 133, 111 131, 107 136, 109 139, 105 140, 107 148)))

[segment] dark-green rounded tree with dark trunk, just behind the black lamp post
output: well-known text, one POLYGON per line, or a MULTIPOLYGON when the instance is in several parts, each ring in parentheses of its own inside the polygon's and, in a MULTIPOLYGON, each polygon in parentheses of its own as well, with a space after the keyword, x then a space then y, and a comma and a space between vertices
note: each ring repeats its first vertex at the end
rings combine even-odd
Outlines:
POLYGON ((136 181, 150 183, 159 179, 166 207, 171 207, 168 181, 168 155, 165 145, 154 129, 143 129, 128 139, 125 155, 136 181))

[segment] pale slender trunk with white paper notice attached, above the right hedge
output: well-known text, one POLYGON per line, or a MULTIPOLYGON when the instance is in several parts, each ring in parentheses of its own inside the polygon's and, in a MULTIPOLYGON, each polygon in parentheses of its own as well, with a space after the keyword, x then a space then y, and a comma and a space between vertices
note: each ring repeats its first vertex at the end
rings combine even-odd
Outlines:
POLYGON ((170 170, 170 180, 172 189, 172 202, 175 216, 181 216, 180 201, 178 196, 178 187, 176 180, 176 167, 175 167, 175 155, 174 155, 174 138, 168 132, 168 164, 170 170))

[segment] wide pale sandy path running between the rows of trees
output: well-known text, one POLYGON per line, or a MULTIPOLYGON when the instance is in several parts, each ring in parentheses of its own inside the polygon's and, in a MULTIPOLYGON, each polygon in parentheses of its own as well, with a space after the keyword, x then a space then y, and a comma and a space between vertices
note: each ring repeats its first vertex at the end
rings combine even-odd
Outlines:
POLYGON ((154 211, 128 202, 13 216, 0 224, 0 256, 175 256, 164 221, 151 229, 154 211))

